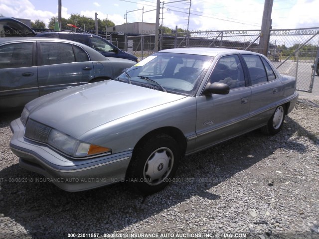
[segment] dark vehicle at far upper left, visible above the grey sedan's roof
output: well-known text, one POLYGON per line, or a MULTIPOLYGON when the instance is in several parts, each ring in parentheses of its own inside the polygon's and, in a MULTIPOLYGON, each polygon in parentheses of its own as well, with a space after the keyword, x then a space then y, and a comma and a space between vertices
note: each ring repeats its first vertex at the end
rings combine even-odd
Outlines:
POLYGON ((12 17, 0 16, 0 37, 35 36, 35 32, 12 17))

